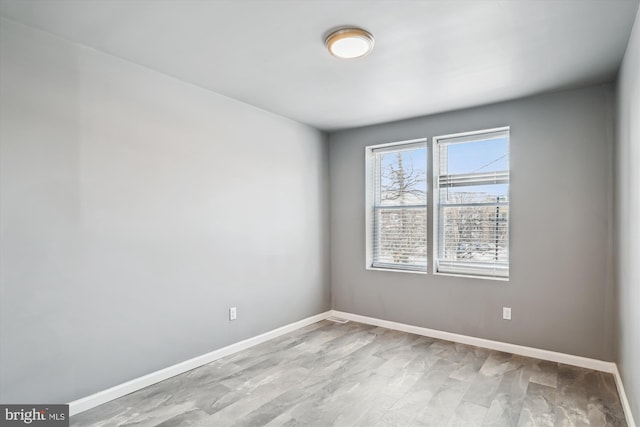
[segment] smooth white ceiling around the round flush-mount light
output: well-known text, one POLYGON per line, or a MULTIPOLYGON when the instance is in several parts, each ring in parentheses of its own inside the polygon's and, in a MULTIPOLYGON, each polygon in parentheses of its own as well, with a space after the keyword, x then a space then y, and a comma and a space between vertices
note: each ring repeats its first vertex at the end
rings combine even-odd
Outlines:
POLYGON ((637 0, 0 0, 0 14, 324 130, 611 81, 637 0), (338 60, 323 36, 373 33, 338 60))

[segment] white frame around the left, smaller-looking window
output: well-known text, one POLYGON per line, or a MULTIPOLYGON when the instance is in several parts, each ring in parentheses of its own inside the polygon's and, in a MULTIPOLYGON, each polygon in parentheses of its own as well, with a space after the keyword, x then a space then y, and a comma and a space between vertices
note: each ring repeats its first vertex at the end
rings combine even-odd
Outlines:
MULTIPOLYGON (((367 270, 379 270, 379 271, 394 271, 402 273, 414 273, 414 274, 426 274, 429 263, 429 254, 426 255, 426 264, 424 268, 415 267, 403 267, 398 264, 386 264, 386 265, 374 265, 374 227, 375 227, 375 183, 376 177, 376 153, 388 151, 396 151, 398 148, 406 146, 407 150, 417 147, 424 147, 427 149, 427 158, 425 164, 429 165, 429 153, 427 147, 427 138, 417 138, 405 141, 389 142, 385 144, 370 145, 365 147, 365 182, 366 182, 366 200, 365 200, 365 244, 366 244, 366 265, 367 270)), ((425 179, 428 179, 428 171, 425 179)), ((428 209, 428 193, 430 191, 430 183, 426 183, 427 194, 425 195, 425 210, 426 210, 426 226, 425 226, 425 242, 428 239, 429 229, 429 209, 428 209)), ((426 245, 426 243, 425 243, 426 245)), ((428 245, 427 245, 428 246, 428 245)), ((426 250, 428 248, 425 248, 426 250)))

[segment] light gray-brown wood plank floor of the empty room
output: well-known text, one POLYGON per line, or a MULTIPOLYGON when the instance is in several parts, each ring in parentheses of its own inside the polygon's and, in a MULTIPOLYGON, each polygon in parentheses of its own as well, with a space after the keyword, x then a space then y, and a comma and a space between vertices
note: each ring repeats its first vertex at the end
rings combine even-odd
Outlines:
POLYGON ((72 426, 626 426, 613 376, 359 323, 315 323, 72 426))

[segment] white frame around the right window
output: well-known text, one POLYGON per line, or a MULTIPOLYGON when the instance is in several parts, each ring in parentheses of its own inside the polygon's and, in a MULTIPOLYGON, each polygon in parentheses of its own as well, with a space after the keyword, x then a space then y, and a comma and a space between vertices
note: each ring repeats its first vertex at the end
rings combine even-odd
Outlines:
MULTIPOLYGON (((441 136, 436 136, 433 137, 432 139, 432 144, 431 144, 431 156, 432 156, 432 183, 433 185, 431 186, 431 188, 429 188, 429 190, 432 193, 432 197, 433 197, 433 204, 432 204, 432 218, 433 218, 433 232, 432 234, 432 247, 433 247, 433 258, 432 258, 432 264, 433 265, 433 274, 435 275, 443 275, 443 276, 458 276, 458 277, 471 277, 471 278, 475 278, 475 279, 489 279, 489 280, 500 280, 500 281, 508 281, 509 280, 509 269, 510 269, 510 259, 508 259, 507 261, 507 267, 506 269, 504 268, 493 268, 493 269, 489 269, 486 267, 479 267, 479 266, 474 266, 472 263, 467 263, 467 265, 464 265, 464 263, 460 263, 457 266, 455 266, 453 263, 447 263, 447 262, 441 262, 439 260, 439 253, 440 253, 440 239, 441 239, 441 235, 440 235, 440 227, 439 227, 439 220, 440 220, 440 145, 443 142, 446 142, 448 144, 451 143, 464 143, 464 142, 472 142, 472 141, 483 141, 483 140, 489 140, 489 139, 495 139, 495 138, 499 138, 499 137, 503 137, 503 136, 507 136, 510 138, 510 127, 509 126, 505 126, 505 127, 500 127, 500 128, 493 128, 493 129, 484 129, 484 130, 479 130, 479 131, 472 131, 472 132, 463 132, 463 133, 456 133, 456 134, 449 134, 449 135, 441 135, 441 136)), ((511 145, 511 142, 509 141, 509 145, 511 145)), ((511 185, 510 185, 510 173, 511 173, 511 167, 509 165, 509 173, 507 174, 506 177, 506 183, 509 184, 509 192, 511 191, 511 185)), ((477 182, 477 181, 473 181, 473 177, 471 177, 472 181, 469 182, 477 182)), ((482 177, 480 179, 487 179, 486 177, 482 177)), ((504 180, 504 176, 500 176, 500 177, 495 177, 496 181, 494 181, 494 183, 497 183, 498 180, 504 180)), ((510 207, 510 197, 508 198, 508 205, 510 207)), ((511 209, 509 209, 509 221, 507 224, 507 227, 509 227, 509 247, 511 246, 511 233, 510 233, 510 229, 511 229, 511 209)))

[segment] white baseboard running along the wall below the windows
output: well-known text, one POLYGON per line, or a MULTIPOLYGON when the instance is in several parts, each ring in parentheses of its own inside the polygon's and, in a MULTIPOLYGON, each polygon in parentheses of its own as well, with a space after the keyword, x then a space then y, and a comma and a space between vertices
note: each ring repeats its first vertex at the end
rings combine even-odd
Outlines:
POLYGON ((574 356, 571 354, 558 353, 555 351, 542 350, 539 348, 525 347, 517 344, 509 344, 500 341, 492 341, 484 338, 476 338, 468 335, 454 334, 451 332, 438 331, 436 329, 423 328, 421 326, 407 325, 404 323, 391 322, 389 320, 380 320, 373 317, 361 316, 359 314, 345 313, 342 311, 332 310, 331 315, 342 317, 344 319, 353 320, 354 322, 366 323, 369 325, 380 326, 388 329, 409 332, 416 335, 423 335, 431 338, 438 338, 446 341, 454 341, 461 344, 474 345, 476 347, 484 347, 491 350, 504 351, 505 353, 519 354, 521 356, 534 357, 536 359, 548 360, 550 362, 565 363, 567 365, 579 366, 581 368, 593 369, 596 371, 608 372, 613 374, 616 370, 616 364, 613 362, 605 362, 603 360, 589 359, 582 356, 574 356))

